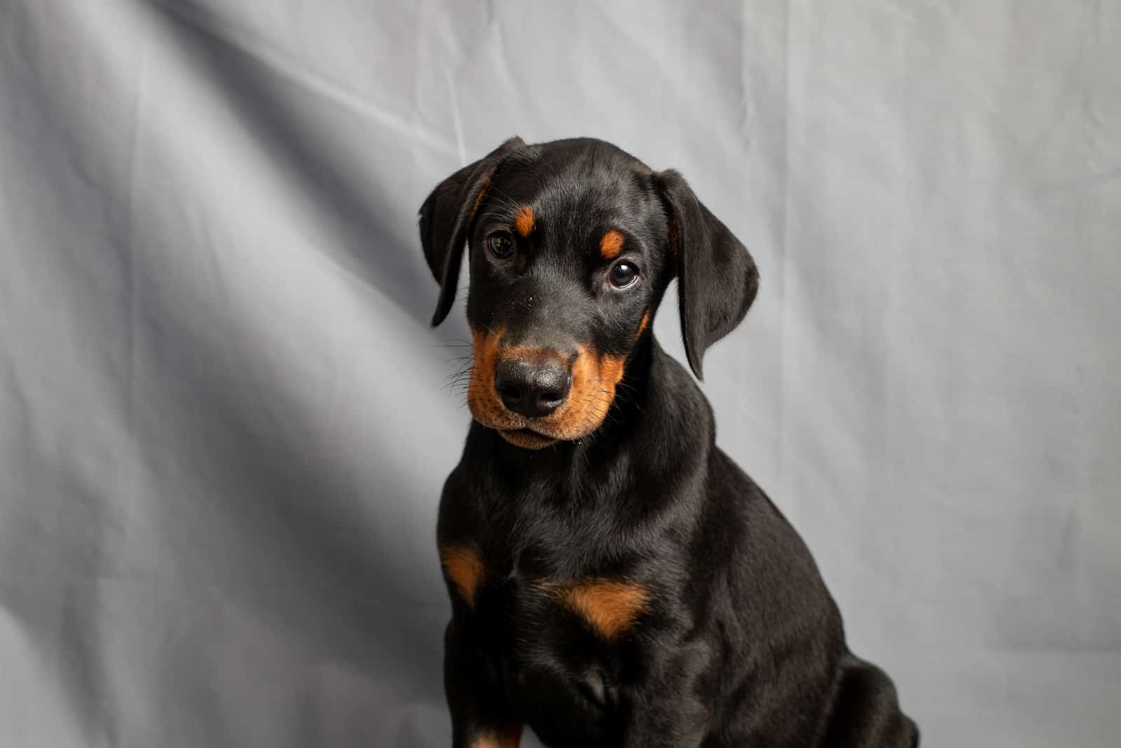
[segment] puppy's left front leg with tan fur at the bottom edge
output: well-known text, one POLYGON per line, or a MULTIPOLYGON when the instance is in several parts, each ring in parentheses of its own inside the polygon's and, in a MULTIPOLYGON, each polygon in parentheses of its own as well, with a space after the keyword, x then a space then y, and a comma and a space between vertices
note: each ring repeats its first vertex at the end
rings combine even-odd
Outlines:
POLYGON ((453 748, 518 748, 521 723, 509 716, 499 676, 454 617, 444 633, 444 692, 453 748))

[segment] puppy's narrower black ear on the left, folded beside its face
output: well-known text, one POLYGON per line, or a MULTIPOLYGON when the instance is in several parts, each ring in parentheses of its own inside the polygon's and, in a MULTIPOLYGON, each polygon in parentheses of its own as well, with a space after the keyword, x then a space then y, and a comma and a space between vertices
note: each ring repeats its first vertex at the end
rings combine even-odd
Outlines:
POLYGON ((439 300, 432 316, 433 327, 444 321, 455 302, 455 284, 460 279, 467 228, 499 162, 503 156, 525 144, 521 138, 510 138, 439 183, 420 206, 420 244, 428 268, 439 283, 439 300))

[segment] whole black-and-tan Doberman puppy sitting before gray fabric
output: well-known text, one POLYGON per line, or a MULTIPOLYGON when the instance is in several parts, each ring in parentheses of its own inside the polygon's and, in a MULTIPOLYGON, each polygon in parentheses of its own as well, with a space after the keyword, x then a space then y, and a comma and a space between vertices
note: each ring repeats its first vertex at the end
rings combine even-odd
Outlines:
POLYGON ((853 656, 798 534, 715 447, 658 345, 678 286, 689 367, 759 275, 676 171, 593 139, 518 138, 441 183, 425 258, 471 282, 474 421, 444 486, 453 742, 915 746, 891 680, 853 656))

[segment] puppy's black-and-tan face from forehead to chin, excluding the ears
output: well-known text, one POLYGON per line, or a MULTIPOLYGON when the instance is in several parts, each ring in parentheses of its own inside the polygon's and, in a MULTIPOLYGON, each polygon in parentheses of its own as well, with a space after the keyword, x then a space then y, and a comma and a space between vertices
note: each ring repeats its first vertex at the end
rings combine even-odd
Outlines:
POLYGON ((650 171, 613 149, 511 159, 469 225, 467 405, 520 447, 600 427, 665 289, 650 171))

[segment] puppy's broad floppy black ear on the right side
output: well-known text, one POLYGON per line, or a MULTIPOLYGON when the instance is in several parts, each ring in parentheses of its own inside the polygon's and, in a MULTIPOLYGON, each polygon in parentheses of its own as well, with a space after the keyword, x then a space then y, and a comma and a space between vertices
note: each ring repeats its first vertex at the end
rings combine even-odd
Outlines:
POLYGON ((685 355, 700 380, 704 352, 748 314, 759 271, 748 249, 701 204, 685 177, 669 169, 655 179, 669 214, 685 355))

